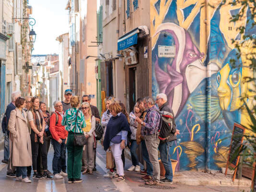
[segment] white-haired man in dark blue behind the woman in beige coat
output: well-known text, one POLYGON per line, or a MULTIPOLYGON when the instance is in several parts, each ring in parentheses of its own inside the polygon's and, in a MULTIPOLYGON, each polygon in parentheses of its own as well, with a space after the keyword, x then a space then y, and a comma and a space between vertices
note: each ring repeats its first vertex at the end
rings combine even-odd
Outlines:
MULTIPOLYGON (((8 131, 8 122, 10 119, 10 114, 12 110, 14 110, 15 107, 15 100, 21 96, 20 91, 14 91, 12 93, 12 102, 7 106, 3 120, 2 120, 2 131, 4 133, 4 157, 2 162, 3 163, 8 163, 9 156, 10 156, 10 143, 9 143, 9 131, 8 131)), ((9 167, 9 166, 8 166, 9 167)), ((13 173, 12 169, 8 169, 7 171, 7 177, 16 177, 16 175, 13 173)))

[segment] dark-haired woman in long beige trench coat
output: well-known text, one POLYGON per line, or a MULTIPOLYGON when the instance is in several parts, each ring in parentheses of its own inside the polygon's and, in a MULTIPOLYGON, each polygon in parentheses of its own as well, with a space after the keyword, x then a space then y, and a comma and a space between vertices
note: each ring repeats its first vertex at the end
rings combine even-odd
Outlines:
POLYGON ((27 128, 27 114, 23 110, 25 99, 18 97, 16 108, 12 110, 8 123, 10 131, 10 158, 12 166, 16 167, 16 180, 29 183, 27 166, 32 165, 31 141, 27 128))

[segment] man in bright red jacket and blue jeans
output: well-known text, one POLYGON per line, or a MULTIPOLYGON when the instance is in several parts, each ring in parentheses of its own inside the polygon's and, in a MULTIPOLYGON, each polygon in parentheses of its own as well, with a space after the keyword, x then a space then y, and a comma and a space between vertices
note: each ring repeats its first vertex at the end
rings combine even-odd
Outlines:
POLYGON ((50 117, 49 130, 53 138, 52 144, 54 149, 54 156, 52 159, 52 170, 54 174, 53 179, 58 180, 62 179, 63 176, 67 176, 66 163, 63 165, 63 162, 66 162, 65 151, 68 131, 65 130, 65 126, 61 125, 61 121, 64 115, 61 101, 55 101, 53 105, 55 112, 50 117))

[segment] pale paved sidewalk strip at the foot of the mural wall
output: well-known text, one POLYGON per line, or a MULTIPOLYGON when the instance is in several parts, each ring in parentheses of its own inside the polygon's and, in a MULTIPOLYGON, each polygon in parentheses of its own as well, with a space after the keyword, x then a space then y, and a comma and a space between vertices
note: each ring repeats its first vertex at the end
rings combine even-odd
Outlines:
POLYGON ((216 173, 205 173, 199 171, 178 171, 175 172, 173 177, 175 184, 184 185, 232 185, 232 186, 248 186, 251 185, 251 180, 242 178, 241 180, 235 179, 232 182, 232 175, 227 175, 216 172, 216 173))

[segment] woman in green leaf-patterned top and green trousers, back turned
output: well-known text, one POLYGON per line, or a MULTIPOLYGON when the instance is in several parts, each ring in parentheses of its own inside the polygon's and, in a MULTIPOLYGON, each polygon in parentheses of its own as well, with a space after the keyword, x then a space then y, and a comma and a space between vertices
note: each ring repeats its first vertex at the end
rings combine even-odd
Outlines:
POLYGON ((81 177, 81 167, 82 167, 82 155, 83 155, 83 146, 74 146, 74 132, 75 134, 84 134, 82 128, 85 128, 85 117, 82 111, 78 110, 79 108, 79 97, 71 97, 71 107, 66 110, 61 124, 65 125, 66 130, 68 131, 68 140, 67 140, 67 151, 68 151, 68 183, 77 183, 82 182, 81 177), (75 127, 76 121, 76 127, 75 127))

